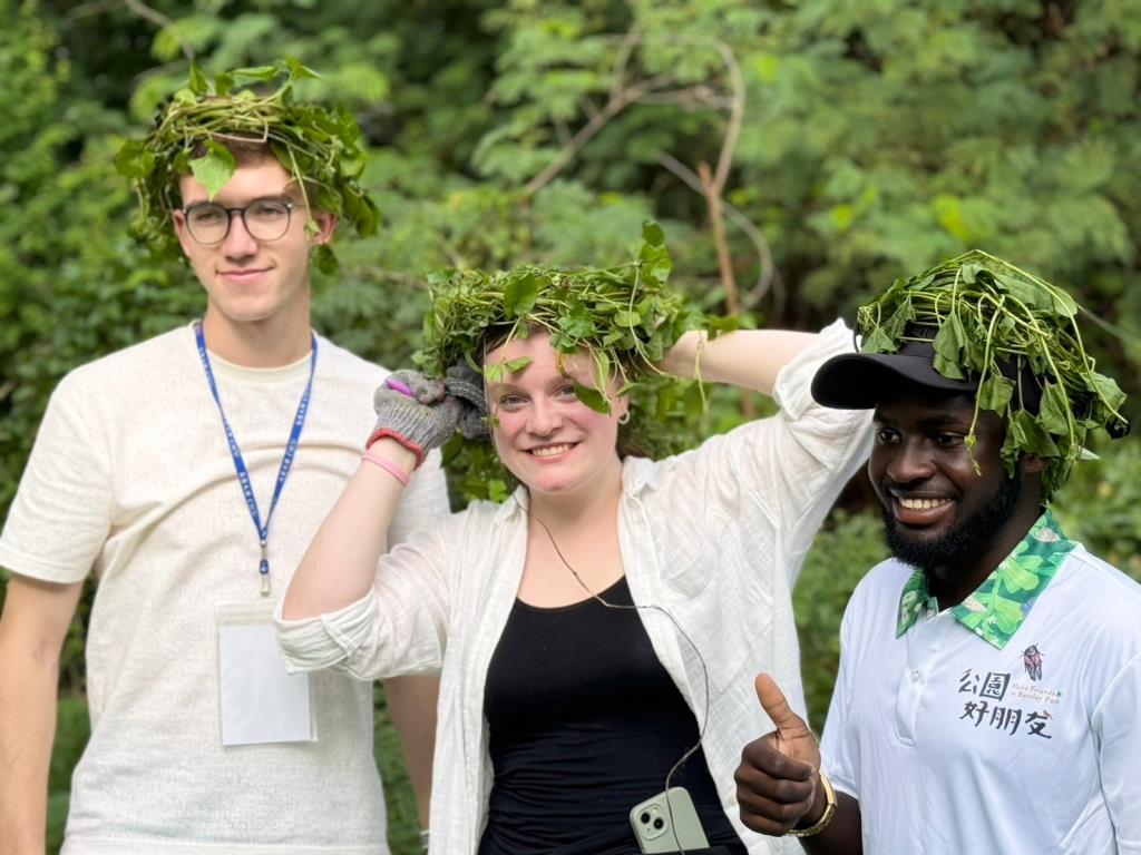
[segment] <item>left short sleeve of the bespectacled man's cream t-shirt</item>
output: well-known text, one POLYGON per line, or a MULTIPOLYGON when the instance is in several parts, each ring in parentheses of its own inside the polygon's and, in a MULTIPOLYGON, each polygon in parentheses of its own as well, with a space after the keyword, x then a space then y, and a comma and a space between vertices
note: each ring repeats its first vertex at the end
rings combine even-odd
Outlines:
POLYGON ((44 581, 82 580, 111 530, 107 447, 81 383, 52 392, 0 536, 0 567, 44 581))

